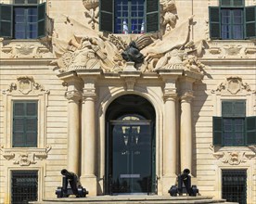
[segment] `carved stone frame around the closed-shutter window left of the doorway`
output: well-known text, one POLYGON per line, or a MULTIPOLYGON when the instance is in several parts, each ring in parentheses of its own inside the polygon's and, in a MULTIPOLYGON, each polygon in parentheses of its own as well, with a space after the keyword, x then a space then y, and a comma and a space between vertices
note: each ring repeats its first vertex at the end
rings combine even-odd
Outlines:
MULTIPOLYGON (((17 83, 11 83, 9 89, 3 91, 4 109, 4 148, 5 150, 20 149, 44 149, 46 148, 46 108, 48 106, 49 91, 45 90, 42 85, 35 83, 32 77, 21 76, 17 78, 17 83), (20 82, 28 80, 30 87, 22 89, 20 82), (13 127, 13 101, 37 101, 38 102, 38 130, 37 130, 37 147, 12 147, 12 127, 13 127)), ((43 150, 42 149, 42 150, 43 150)))

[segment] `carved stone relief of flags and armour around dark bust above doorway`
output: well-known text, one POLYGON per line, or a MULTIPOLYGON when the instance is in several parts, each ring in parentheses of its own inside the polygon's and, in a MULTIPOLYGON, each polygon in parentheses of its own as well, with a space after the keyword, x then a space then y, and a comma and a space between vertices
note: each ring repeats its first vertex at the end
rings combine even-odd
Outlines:
POLYGON ((125 70, 127 61, 134 61, 135 70, 141 72, 157 70, 190 70, 200 72, 199 62, 203 43, 189 39, 192 18, 179 22, 173 0, 160 1, 160 32, 131 35, 97 32, 98 0, 83 0, 84 20, 81 23, 71 17, 63 22, 70 32, 64 37, 56 31, 52 38, 57 59, 52 62, 59 72, 69 70, 103 70, 119 72, 125 70), (79 31, 76 34, 73 31, 79 31), (159 39, 160 37, 160 39, 159 39))

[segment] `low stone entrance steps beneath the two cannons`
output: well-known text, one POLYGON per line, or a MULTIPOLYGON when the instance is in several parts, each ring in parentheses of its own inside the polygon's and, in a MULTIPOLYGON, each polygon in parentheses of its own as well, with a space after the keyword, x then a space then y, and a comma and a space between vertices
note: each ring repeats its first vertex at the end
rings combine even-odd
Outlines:
POLYGON ((170 196, 97 196, 87 198, 47 198, 44 201, 30 202, 31 204, 235 204, 224 199, 212 199, 212 197, 170 197, 170 196))

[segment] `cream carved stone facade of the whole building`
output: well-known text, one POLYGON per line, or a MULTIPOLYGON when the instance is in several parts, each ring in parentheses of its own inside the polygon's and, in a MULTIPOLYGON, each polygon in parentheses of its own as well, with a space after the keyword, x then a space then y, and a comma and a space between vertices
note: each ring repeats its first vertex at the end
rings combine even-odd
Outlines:
POLYGON ((39 200, 56 198, 64 168, 90 196, 104 195, 109 107, 128 95, 155 111, 159 196, 189 168, 200 195, 222 198, 222 170, 243 169, 256 203, 255 146, 210 145, 223 100, 245 100, 246 116, 256 115, 255 40, 210 39, 208 8, 218 1, 160 0, 160 32, 141 34, 99 32, 98 0, 42 2, 51 34, 0 40, 0 203, 10 201, 17 170, 39 172, 39 200), (131 42, 143 61, 123 59, 131 42), (37 147, 12 147, 16 100, 38 101, 37 147))

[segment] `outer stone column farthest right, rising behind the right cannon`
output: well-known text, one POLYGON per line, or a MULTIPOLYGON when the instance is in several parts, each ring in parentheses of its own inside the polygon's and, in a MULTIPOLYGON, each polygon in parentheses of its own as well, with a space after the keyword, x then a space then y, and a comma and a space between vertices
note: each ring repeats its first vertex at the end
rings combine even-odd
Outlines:
POLYGON ((189 169, 192 172, 192 113, 191 101, 194 96, 191 92, 186 92, 181 96, 181 171, 189 169))

